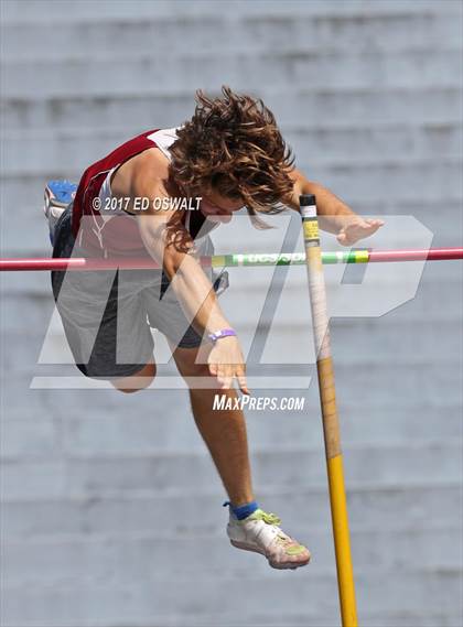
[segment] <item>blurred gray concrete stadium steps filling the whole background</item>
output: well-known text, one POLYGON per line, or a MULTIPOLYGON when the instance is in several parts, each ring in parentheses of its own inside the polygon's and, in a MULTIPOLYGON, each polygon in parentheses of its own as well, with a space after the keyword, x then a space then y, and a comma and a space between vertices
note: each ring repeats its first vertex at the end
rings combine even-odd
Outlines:
MULTIPOLYGON (((309 177, 385 217, 373 246, 410 245, 399 215, 430 229, 433 246, 461 246, 460 2, 3 0, 0 10, 3 257, 50 253, 47 179, 78 180, 132 134, 186 119, 195 88, 222 84, 265 99, 309 177)), ((281 240, 239 229, 217 234, 217 250, 281 240)), ((266 277, 236 271, 224 298, 246 340, 266 277)), ((273 572, 228 544, 224 490, 186 392, 31 389, 34 377, 76 370, 37 363, 49 277, 1 279, 2 627, 338 625, 316 386, 278 391, 304 396, 304 412, 248 414, 257 497, 314 555, 273 572)), ((365 627, 462 623, 461 279, 459 262, 428 263, 407 304, 333 321, 365 627)), ((401 284, 392 270, 381 281, 377 294, 401 284)), ((310 343, 303 272, 288 283, 272 346, 295 354, 294 336, 310 343)), ((47 337, 60 354, 60 327, 47 337)))

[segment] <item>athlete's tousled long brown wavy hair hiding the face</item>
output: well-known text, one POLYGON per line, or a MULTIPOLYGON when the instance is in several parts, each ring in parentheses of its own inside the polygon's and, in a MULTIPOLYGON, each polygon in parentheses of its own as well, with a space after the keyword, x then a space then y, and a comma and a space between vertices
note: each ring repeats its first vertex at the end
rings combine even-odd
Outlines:
POLYGON ((294 158, 273 113, 261 99, 222 87, 222 97, 198 89, 191 120, 170 148, 170 175, 189 197, 214 190, 243 199, 254 226, 268 228, 257 214, 284 208, 292 192, 294 158))

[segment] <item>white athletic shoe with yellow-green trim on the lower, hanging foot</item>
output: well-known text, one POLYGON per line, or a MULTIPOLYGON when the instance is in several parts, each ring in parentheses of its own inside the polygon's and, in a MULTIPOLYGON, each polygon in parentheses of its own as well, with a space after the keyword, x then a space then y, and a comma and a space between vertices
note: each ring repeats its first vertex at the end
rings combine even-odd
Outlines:
POLYGON ((272 569, 297 569, 310 562, 310 551, 287 536, 274 514, 257 509, 238 520, 229 510, 227 534, 234 547, 265 555, 272 569))

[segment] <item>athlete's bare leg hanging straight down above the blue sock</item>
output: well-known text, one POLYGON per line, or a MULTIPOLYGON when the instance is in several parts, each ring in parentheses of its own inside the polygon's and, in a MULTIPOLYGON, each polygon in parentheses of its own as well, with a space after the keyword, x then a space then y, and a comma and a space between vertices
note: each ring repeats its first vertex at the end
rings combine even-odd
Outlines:
MULTIPOLYGON (((196 348, 176 348, 173 353, 180 374, 187 379, 205 377, 215 381, 207 364, 195 364, 196 348)), ((187 381, 189 382, 189 381, 187 381)), ((235 390, 192 389, 193 415, 206 443, 222 482, 234 506, 254 500, 246 422, 240 410, 214 410, 214 397, 225 393, 236 398, 235 390)))

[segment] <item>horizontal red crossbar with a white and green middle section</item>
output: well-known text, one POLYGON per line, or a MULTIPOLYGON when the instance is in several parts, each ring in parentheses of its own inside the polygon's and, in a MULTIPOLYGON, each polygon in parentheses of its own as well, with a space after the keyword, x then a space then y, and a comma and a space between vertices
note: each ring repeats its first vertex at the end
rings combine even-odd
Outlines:
MULTIPOLYGON (((322 252, 322 262, 331 263, 385 263, 401 261, 450 261, 463 259, 463 248, 430 248, 406 250, 336 250, 322 252)), ((213 268, 240 268, 265 266, 305 266, 303 252, 250 252, 239 255, 213 255, 201 257, 201 264, 213 268)), ((150 270, 159 264, 150 257, 144 258, 111 258, 91 259, 84 257, 72 258, 12 258, 0 259, 0 271, 39 271, 39 270, 150 270)))

